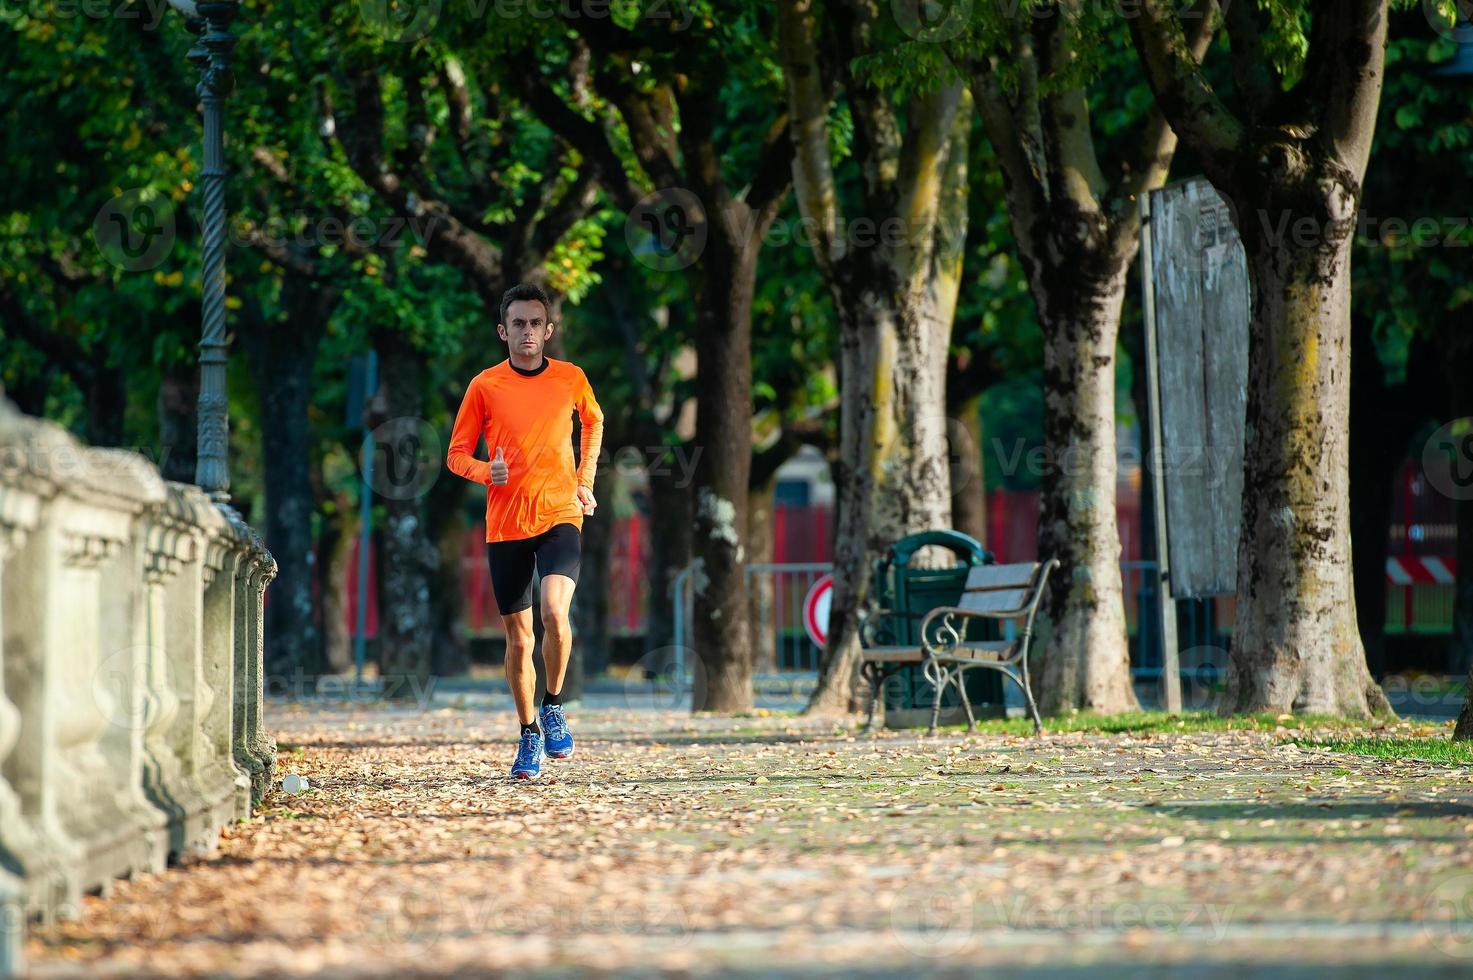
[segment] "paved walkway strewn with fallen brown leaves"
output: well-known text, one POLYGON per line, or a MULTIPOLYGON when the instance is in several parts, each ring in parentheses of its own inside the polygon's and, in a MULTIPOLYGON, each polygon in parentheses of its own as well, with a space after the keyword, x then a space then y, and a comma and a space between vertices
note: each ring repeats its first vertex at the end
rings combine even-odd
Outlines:
POLYGON ((530 785, 474 699, 271 706, 312 788, 38 928, 34 976, 1473 970, 1466 769, 608 701, 530 785))

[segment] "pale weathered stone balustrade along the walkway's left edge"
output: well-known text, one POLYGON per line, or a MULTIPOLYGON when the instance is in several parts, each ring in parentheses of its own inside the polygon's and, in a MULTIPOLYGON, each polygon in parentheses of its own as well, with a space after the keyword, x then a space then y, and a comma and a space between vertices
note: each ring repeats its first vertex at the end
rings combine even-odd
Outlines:
POLYGON ((228 505, 0 399, 0 977, 28 918, 214 847, 265 793, 274 575, 228 505))

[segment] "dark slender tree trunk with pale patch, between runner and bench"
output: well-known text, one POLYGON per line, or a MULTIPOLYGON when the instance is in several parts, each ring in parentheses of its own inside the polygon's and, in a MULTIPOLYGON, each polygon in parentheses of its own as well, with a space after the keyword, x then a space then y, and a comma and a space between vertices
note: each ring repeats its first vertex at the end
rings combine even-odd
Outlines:
MULTIPOLYGON (((735 206, 744 206, 735 203, 735 206)), ((717 217, 722 221, 722 217, 717 217)), ((729 225, 728 225, 729 227, 729 225)), ((744 576, 747 480, 751 472, 751 296, 757 240, 732 245, 713 228, 695 276, 695 522, 691 645, 701 663, 692 710, 753 706, 751 635, 744 576)))

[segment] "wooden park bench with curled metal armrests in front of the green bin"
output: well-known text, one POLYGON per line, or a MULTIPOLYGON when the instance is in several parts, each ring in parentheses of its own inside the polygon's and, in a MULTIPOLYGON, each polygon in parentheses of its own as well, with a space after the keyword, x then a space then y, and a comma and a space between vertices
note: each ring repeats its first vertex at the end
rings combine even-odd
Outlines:
POLYGON ((1038 704, 1034 701, 1028 678, 1028 643, 1033 638, 1033 619, 1049 573, 1058 564, 1056 559, 1049 559, 1018 564, 980 564, 969 569, 956 606, 938 606, 925 613, 921 620, 919 643, 869 643, 875 634, 863 631, 866 643, 860 653, 860 671, 871 684, 868 725, 875 724, 875 703, 879 700, 879 688, 885 678, 901 666, 919 663, 934 688, 929 731, 935 731, 941 713, 941 694, 947 684, 955 685, 962 699, 968 729, 977 728, 977 716, 972 713, 963 681, 966 671, 985 668, 1005 673, 1022 688, 1028 713, 1033 716, 1034 734, 1041 732, 1043 721, 1038 718, 1038 704), (972 640, 965 623, 968 619, 1012 620, 1018 628, 1010 640, 972 640))

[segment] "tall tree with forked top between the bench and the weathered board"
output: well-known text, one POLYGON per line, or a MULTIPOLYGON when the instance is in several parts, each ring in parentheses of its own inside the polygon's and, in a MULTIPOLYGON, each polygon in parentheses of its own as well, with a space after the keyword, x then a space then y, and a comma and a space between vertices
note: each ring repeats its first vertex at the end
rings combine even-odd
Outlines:
MULTIPOLYGON (((1211 37, 1209 6, 1193 10, 1184 41, 1193 65, 1211 37)), ((952 60, 971 80, 1003 171, 1043 327, 1038 554, 1061 563, 1041 607, 1043 710, 1134 709, 1115 523, 1115 346, 1140 245, 1137 199, 1165 181, 1177 139, 1159 112, 1143 113, 1131 152, 1106 172, 1087 88, 1100 57, 1086 52, 1108 49, 1109 28, 1080 0, 1031 3, 975 28, 952 60)))

